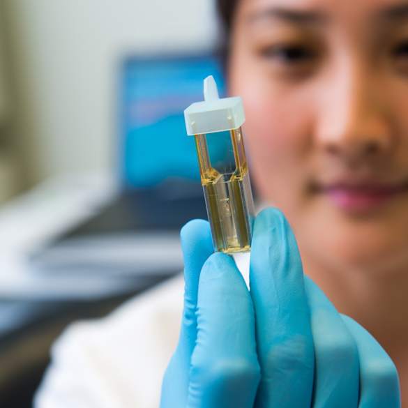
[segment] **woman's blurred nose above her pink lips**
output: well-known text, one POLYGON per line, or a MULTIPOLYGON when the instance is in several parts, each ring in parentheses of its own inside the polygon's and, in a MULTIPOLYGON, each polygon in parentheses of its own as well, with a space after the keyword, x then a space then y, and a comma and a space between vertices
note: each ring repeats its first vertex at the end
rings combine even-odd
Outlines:
POLYGON ((343 64, 326 89, 317 130, 320 148, 353 165, 389 154, 394 140, 386 89, 370 68, 343 64))

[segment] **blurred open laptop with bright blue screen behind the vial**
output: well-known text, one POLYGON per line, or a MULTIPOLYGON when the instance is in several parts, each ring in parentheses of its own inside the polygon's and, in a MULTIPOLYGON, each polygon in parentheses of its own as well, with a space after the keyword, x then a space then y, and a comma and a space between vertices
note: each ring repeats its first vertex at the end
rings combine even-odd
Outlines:
MULTIPOLYGON (((127 279, 181 271, 179 229, 206 219, 194 137, 183 110, 203 100, 213 75, 226 93, 217 54, 136 56, 119 70, 120 193, 95 216, 31 254, 40 273, 127 279)), ((222 151, 213 147, 212 154, 222 151)))

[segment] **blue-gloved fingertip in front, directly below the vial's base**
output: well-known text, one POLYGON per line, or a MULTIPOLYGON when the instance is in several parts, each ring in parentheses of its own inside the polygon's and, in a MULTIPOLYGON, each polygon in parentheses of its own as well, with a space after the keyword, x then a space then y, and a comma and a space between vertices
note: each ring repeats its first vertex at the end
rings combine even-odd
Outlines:
POLYGON ((220 252, 199 279, 189 408, 252 408, 259 382, 255 316, 232 257, 220 252))

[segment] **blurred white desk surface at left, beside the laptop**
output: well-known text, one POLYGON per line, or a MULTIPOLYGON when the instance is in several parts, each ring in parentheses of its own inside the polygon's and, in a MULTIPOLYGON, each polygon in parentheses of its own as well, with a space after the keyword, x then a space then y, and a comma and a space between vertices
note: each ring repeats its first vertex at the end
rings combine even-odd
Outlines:
MULTIPOLYGON (((46 181, 0 207, 0 299, 77 299, 102 295, 103 282, 81 293, 67 277, 41 277, 31 271, 27 257, 69 227, 93 215, 114 197, 117 188, 108 176, 66 176, 46 181)), ((94 282, 93 282, 94 283, 94 282)), ((82 285, 85 289, 86 283, 82 285)), ((106 293, 106 292, 105 292, 106 293)))

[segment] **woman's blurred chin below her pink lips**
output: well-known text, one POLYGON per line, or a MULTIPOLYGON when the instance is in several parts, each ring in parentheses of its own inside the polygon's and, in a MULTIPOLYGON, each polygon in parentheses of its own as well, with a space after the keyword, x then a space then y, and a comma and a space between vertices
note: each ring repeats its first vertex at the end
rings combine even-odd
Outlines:
POLYGON ((333 209, 314 211, 292 222, 305 259, 328 269, 408 273, 406 211, 356 218, 333 209), (398 216, 400 214, 400 216, 398 216))

